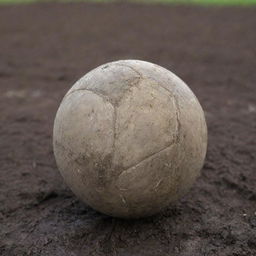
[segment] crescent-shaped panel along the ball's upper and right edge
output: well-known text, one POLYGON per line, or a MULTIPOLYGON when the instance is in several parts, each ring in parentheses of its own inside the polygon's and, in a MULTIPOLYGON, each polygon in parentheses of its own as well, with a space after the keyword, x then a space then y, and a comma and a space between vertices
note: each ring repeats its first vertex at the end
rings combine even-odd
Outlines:
POLYGON ((145 61, 127 60, 125 62, 136 68, 144 77, 158 81, 159 85, 166 88, 175 99, 180 124, 178 139, 186 160, 180 167, 179 194, 184 194, 200 175, 206 155, 207 127, 202 107, 190 88, 169 70, 145 61))

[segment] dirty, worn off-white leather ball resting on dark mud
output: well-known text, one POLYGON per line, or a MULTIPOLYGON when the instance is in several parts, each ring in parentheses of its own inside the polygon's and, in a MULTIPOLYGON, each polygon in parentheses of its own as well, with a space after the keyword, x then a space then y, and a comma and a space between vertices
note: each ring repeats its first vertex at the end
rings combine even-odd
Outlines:
POLYGON ((188 86, 158 65, 121 60, 78 80, 56 114, 58 168, 102 213, 153 215, 182 196, 203 166, 207 128, 188 86))

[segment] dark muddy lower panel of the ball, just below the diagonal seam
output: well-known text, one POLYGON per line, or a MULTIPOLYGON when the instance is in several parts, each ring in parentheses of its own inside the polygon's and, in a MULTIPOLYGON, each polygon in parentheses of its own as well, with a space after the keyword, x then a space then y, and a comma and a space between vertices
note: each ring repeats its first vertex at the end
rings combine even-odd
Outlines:
POLYGON ((181 175, 178 150, 173 144, 119 175, 116 184, 130 215, 152 215, 177 198, 181 175))

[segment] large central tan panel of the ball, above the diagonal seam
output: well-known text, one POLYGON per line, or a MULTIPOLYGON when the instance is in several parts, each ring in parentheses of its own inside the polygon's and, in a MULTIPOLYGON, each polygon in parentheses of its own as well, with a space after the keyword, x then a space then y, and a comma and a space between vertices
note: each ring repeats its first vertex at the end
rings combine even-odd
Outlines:
POLYGON ((155 81, 132 87, 116 109, 114 164, 127 168, 170 146, 178 132, 175 108, 155 81))

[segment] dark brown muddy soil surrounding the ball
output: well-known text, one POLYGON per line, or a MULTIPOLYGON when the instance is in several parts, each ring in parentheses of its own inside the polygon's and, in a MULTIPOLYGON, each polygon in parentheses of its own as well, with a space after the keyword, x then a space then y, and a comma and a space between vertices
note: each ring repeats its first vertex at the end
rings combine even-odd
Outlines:
POLYGON ((0 7, 0 255, 256 255, 256 8, 136 4, 0 7), (64 184, 52 127, 70 86, 136 58, 182 77, 209 146, 191 191, 162 213, 121 220, 64 184))

